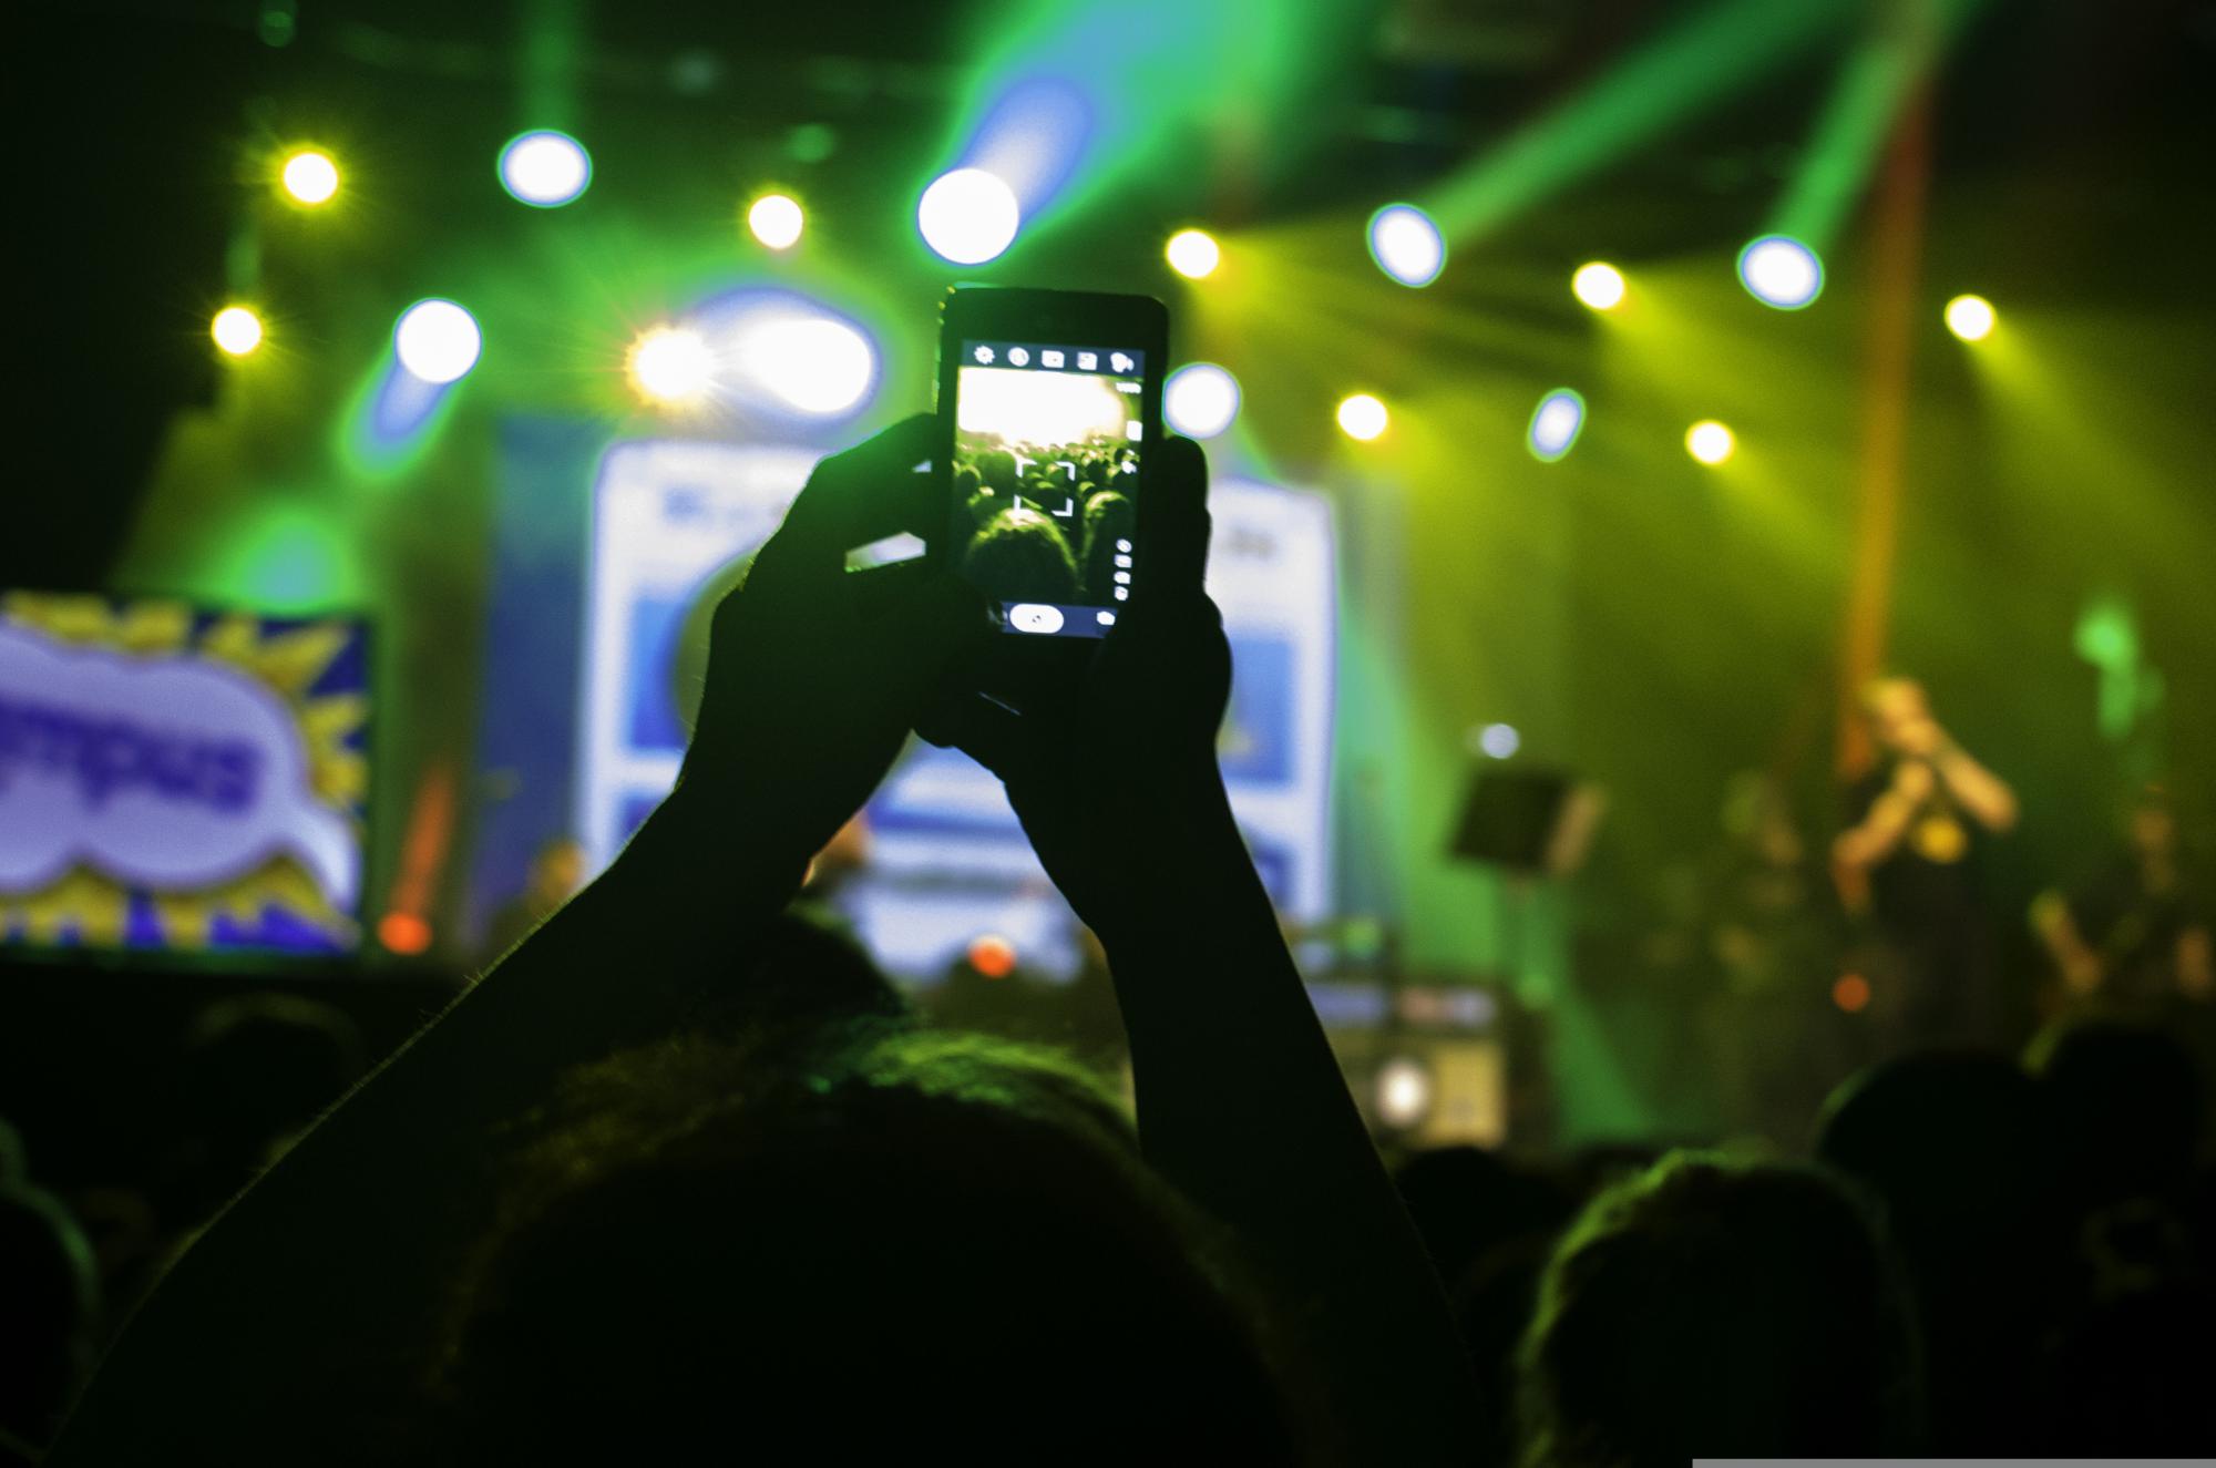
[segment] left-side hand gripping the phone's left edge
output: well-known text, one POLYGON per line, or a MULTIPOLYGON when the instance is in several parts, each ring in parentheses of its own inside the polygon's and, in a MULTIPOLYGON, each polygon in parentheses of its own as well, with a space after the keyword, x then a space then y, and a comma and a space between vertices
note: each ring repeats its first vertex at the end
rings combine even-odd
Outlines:
POLYGON ((931 415, 815 466, 747 579, 716 608, 678 789, 804 865, 891 769, 922 710, 991 634, 982 597, 926 561, 847 570, 900 530, 935 534, 931 415))

